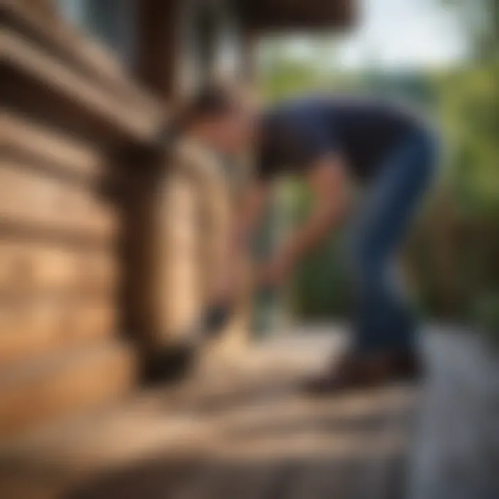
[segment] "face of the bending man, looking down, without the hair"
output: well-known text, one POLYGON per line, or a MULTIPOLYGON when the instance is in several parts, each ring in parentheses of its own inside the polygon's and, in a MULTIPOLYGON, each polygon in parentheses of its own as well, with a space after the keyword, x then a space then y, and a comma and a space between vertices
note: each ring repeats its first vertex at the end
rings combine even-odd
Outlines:
POLYGON ((194 125, 193 134, 222 155, 238 155, 249 146, 252 120, 242 110, 231 110, 202 119, 194 125))

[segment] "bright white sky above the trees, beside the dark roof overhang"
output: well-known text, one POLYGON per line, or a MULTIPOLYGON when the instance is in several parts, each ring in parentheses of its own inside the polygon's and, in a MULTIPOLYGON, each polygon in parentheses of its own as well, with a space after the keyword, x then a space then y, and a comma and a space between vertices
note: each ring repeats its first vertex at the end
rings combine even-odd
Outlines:
MULTIPOLYGON (((442 0, 358 1, 357 26, 331 42, 335 69, 448 67, 465 57, 466 37, 442 0)), ((316 50, 310 37, 290 37, 286 44, 292 58, 316 50)))

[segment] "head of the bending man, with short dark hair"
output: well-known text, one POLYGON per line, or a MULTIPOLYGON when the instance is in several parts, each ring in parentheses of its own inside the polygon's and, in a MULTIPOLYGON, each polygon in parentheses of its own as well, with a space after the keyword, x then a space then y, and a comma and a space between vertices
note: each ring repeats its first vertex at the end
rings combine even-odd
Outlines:
POLYGON ((254 133, 252 112, 222 87, 204 87, 181 116, 181 128, 223 155, 247 149, 254 133))

